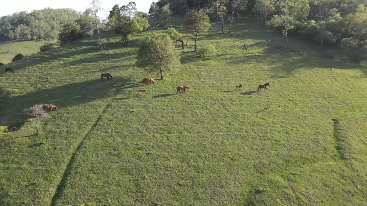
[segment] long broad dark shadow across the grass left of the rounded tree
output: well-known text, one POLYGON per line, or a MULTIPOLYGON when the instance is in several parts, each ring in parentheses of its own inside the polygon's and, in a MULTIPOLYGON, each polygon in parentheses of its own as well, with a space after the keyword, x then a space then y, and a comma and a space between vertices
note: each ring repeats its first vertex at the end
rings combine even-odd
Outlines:
POLYGON ((116 95, 121 89, 140 87, 130 83, 130 78, 115 77, 113 80, 101 81, 99 78, 84 82, 65 84, 59 87, 41 89, 25 95, 0 96, 2 107, 15 109, 0 110, 0 116, 14 115, 14 110, 21 113, 25 108, 35 104, 51 103, 59 108, 75 106, 116 95))

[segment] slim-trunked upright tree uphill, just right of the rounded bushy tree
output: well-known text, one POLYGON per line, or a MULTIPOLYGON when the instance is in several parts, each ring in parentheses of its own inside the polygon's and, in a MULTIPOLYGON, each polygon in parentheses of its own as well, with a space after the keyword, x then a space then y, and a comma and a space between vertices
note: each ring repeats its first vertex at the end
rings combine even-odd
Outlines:
POLYGON ((206 14, 205 10, 188 10, 186 12, 185 26, 187 29, 191 30, 194 33, 194 51, 196 51, 196 41, 199 37, 199 33, 206 32, 211 27, 209 17, 206 14))

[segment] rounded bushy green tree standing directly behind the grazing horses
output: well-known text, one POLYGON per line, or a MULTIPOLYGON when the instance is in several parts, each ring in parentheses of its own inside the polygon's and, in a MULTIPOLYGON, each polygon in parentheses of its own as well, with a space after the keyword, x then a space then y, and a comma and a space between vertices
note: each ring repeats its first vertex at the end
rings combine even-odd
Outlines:
POLYGON ((146 37, 140 45, 137 66, 159 71, 161 80, 163 72, 177 68, 180 65, 179 54, 168 34, 159 33, 146 37))

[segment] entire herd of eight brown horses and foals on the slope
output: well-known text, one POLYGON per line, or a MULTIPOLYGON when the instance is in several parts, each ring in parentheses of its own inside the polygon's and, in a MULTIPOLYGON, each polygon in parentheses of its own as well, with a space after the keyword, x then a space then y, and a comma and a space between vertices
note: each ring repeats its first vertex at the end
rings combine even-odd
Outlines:
MULTIPOLYGON (((14 70, 12 69, 12 67, 6 67, 5 68, 5 73, 8 73, 8 71, 10 71, 10 73, 14 73, 14 70)), ((110 73, 104 73, 104 74, 101 74, 101 81, 104 81, 103 78, 106 77, 107 80, 109 80, 109 78, 111 78, 112 80, 112 75, 110 73)), ((142 83, 143 85, 146 85, 146 84, 154 84, 154 79, 153 78, 150 78, 150 77, 146 77, 143 79, 142 83)), ((267 86, 270 87, 270 84, 269 83, 266 83, 266 84, 260 84, 259 87, 257 88, 257 91, 261 91, 261 89, 264 89, 264 91, 268 90, 268 88, 266 88, 267 86)), ((241 89, 242 88, 242 85, 239 84, 239 85, 236 85, 236 90, 237 89, 241 89)), ((177 92, 180 92, 180 93, 185 93, 186 89, 189 89, 188 86, 178 86, 176 87, 177 89, 177 92)), ((147 90, 146 89, 139 89, 139 95, 143 95, 147 93, 147 90)), ((54 104, 43 104, 43 109, 44 110, 50 110, 52 112, 52 108, 55 108, 57 110, 57 106, 55 106, 54 104)))

